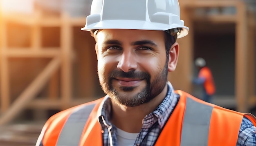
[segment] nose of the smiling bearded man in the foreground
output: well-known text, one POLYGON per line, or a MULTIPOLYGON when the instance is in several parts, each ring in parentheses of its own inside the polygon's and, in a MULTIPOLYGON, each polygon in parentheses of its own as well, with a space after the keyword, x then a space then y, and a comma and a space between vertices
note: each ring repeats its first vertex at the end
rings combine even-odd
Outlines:
POLYGON ((132 71, 137 69, 136 54, 131 51, 124 51, 119 56, 119 62, 117 69, 121 69, 124 72, 132 71))

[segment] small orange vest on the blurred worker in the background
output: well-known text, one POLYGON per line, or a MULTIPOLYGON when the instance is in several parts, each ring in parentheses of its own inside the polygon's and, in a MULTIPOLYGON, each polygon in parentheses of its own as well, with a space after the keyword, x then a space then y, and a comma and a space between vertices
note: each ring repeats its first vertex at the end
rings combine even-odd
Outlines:
POLYGON ((213 95, 216 89, 215 89, 213 76, 211 74, 211 70, 208 67, 204 66, 202 69, 200 69, 198 73, 198 77, 205 78, 204 88, 206 90, 206 93, 208 95, 213 95))

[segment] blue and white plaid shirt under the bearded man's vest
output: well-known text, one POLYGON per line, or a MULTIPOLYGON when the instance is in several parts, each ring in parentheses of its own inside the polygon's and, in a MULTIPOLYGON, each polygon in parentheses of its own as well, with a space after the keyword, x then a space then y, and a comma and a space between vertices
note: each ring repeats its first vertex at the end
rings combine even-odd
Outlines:
MULTIPOLYGON (((149 115, 144 117, 143 125, 134 146, 153 146, 160 130, 163 128, 168 115, 173 111, 180 95, 174 93, 173 86, 168 82, 167 95, 163 102, 149 115)), ((111 100, 106 97, 99 108, 99 122, 101 123, 104 146, 117 146, 117 128, 110 122, 111 100)), ((249 119, 243 119, 236 146, 256 146, 256 128, 249 119)))

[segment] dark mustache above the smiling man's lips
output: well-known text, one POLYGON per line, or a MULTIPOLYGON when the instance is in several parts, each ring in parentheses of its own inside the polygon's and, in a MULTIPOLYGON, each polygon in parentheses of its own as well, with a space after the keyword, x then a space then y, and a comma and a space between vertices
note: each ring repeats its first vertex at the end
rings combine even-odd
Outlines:
POLYGON ((121 70, 114 70, 110 72, 109 74, 110 78, 116 78, 116 77, 128 77, 128 78, 138 78, 138 79, 149 79, 150 75, 149 73, 143 72, 143 71, 129 71, 124 72, 121 70))

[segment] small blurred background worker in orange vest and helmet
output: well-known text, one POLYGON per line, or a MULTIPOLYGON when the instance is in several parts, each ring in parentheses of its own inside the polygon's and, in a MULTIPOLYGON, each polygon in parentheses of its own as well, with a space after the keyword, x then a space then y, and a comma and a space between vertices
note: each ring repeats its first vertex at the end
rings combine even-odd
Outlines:
POLYGON ((206 62, 203 58, 197 58, 195 60, 195 66, 199 73, 198 77, 193 79, 193 83, 202 85, 202 100, 211 102, 211 97, 216 91, 211 70, 206 66, 206 62))

